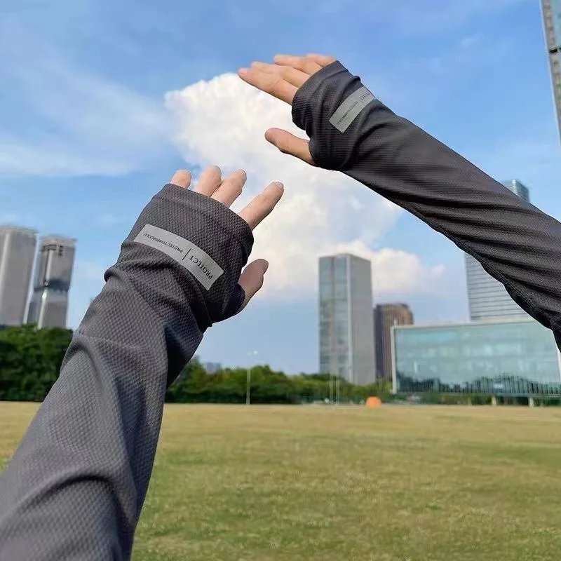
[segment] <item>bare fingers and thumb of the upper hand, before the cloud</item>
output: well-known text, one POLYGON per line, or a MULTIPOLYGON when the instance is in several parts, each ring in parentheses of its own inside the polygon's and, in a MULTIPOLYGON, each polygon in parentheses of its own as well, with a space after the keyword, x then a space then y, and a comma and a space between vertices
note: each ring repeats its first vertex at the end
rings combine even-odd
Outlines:
MULTIPOLYGON (((298 88, 310 76, 335 62, 335 59, 327 55, 306 55, 305 57, 275 55, 274 62, 273 65, 266 62, 252 62, 250 68, 241 68, 238 70, 238 74, 243 81, 255 86, 258 90, 270 93, 279 100, 292 105, 298 88)), ((283 154, 290 154, 310 165, 316 165, 310 154, 309 142, 304 138, 299 138, 280 128, 269 128, 265 133, 265 138, 283 154)))

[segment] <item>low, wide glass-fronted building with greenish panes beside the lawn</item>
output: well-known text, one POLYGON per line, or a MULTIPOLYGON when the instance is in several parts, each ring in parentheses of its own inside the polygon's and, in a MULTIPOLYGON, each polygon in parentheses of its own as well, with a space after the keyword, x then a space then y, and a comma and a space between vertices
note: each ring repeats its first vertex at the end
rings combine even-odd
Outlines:
POLYGON ((400 393, 560 395, 553 333, 532 318, 392 329, 400 393))

